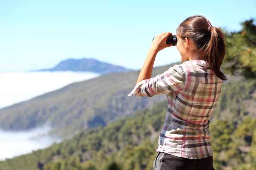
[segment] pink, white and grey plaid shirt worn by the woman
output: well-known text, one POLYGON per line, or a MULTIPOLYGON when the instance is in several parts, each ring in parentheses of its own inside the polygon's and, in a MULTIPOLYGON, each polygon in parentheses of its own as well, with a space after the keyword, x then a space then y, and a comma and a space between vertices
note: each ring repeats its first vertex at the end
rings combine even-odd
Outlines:
POLYGON ((128 96, 167 94, 165 124, 159 136, 157 151, 189 159, 210 157, 209 117, 222 87, 201 60, 183 62, 161 75, 140 81, 128 96))

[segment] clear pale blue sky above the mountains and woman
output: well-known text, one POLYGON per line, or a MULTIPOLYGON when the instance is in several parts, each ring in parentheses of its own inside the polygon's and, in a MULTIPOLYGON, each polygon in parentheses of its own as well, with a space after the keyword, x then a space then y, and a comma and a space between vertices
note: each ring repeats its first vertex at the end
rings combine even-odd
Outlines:
MULTIPOLYGON (((0 71, 50 68, 68 58, 95 58, 140 69, 152 38, 203 15, 229 31, 256 18, 255 0, 0 0, 0 71)), ((155 66, 180 61, 176 47, 155 66)))

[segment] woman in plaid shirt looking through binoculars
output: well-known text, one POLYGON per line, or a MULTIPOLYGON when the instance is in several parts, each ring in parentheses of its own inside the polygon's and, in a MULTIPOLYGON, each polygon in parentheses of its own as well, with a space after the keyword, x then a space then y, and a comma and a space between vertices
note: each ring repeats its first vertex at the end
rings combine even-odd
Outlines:
POLYGON ((224 35, 203 16, 188 17, 176 30, 180 65, 151 78, 156 54, 171 33, 156 36, 128 96, 167 95, 165 124, 159 136, 154 170, 212 170, 209 117, 223 80, 224 35))

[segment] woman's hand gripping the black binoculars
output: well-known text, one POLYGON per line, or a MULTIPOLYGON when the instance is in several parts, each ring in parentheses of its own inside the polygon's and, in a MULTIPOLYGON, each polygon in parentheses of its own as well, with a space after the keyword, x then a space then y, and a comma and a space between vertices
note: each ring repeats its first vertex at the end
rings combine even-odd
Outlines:
POLYGON ((155 36, 150 50, 155 50, 157 52, 161 51, 162 49, 165 49, 166 47, 173 46, 172 44, 166 44, 166 40, 169 35, 172 35, 172 33, 166 32, 166 33, 161 33, 157 36, 155 36))

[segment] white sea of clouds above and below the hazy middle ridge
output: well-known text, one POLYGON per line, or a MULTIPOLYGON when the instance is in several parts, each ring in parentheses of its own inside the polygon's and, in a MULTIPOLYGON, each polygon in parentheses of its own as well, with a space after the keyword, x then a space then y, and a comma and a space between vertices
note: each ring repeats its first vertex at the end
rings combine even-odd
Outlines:
MULTIPOLYGON (((0 108, 98 76, 97 73, 71 71, 0 72, 0 108)), ((0 160, 30 153, 61 141, 59 138, 46 135, 50 130, 47 125, 30 131, 3 131, 0 129, 0 160)))

